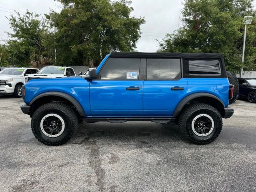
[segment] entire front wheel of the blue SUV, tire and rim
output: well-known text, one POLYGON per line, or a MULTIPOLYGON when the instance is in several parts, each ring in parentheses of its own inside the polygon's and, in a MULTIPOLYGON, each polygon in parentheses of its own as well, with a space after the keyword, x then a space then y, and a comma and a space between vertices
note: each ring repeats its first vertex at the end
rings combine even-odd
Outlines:
POLYGON ((33 114, 31 128, 34 136, 46 145, 62 145, 73 136, 78 126, 74 109, 62 102, 40 106, 33 114))

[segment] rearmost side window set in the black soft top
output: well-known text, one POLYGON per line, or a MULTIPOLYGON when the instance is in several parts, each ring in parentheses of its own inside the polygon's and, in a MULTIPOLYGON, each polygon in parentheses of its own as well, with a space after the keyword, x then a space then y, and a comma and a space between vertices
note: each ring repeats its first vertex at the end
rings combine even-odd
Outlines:
POLYGON ((218 60, 189 60, 189 75, 221 75, 218 60))

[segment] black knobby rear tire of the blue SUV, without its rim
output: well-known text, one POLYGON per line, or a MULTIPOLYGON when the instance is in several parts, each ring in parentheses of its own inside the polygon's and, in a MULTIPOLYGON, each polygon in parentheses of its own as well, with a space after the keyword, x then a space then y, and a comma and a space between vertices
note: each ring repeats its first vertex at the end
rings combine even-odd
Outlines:
POLYGON ((193 104, 182 110, 178 118, 178 125, 185 140, 189 140, 194 144, 208 144, 213 142, 220 135, 222 130, 222 118, 220 112, 213 106, 208 104, 193 104), (197 136, 192 131, 192 120, 199 114, 207 114, 214 121, 214 128, 207 136, 197 136))

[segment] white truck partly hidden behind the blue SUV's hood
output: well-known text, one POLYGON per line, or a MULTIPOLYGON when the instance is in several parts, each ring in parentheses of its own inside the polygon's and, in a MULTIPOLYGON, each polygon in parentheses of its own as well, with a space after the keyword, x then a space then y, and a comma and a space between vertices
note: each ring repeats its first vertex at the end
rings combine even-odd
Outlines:
POLYGON ((40 69, 37 74, 27 75, 25 77, 25 82, 30 79, 36 78, 60 78, 66 76, 75 76, 74 69, 71 67, 57 67, 57 66, 47 66, 40 69))

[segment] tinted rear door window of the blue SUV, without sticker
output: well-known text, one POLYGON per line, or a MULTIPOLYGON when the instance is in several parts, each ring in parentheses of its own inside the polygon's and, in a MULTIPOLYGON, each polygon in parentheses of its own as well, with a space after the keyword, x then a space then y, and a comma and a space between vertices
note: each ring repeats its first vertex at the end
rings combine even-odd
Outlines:
POLYGON ((172 80, 180 71, 180 59, 147 59, 148 80, 172 80))

